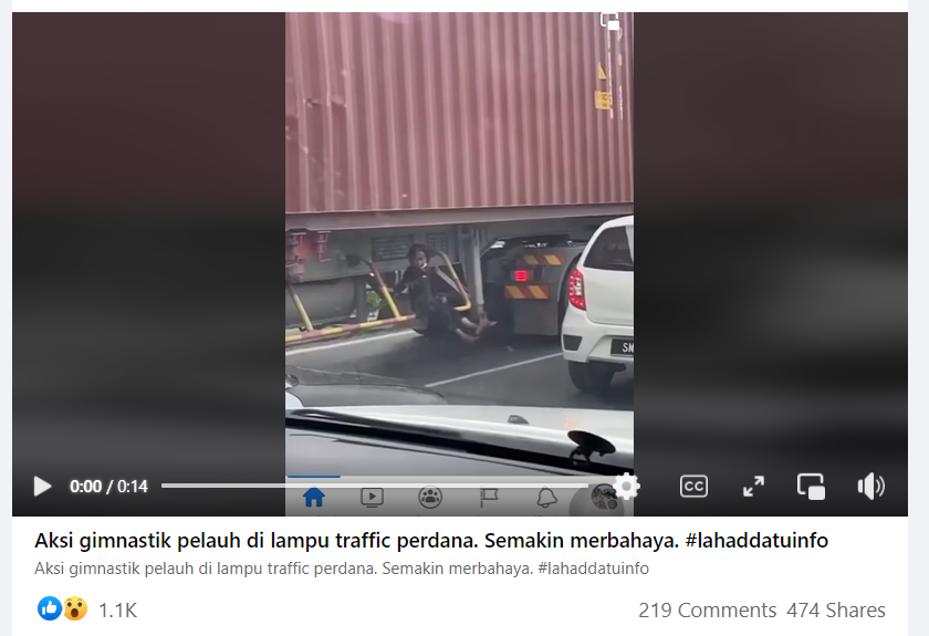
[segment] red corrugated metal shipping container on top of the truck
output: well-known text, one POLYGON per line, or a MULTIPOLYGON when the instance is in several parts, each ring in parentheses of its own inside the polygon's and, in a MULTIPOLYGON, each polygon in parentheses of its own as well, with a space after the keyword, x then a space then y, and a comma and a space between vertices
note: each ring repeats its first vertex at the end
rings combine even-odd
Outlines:
POLYGON ((633 201, 633 15, 288 13, 286 212, 633 201))

